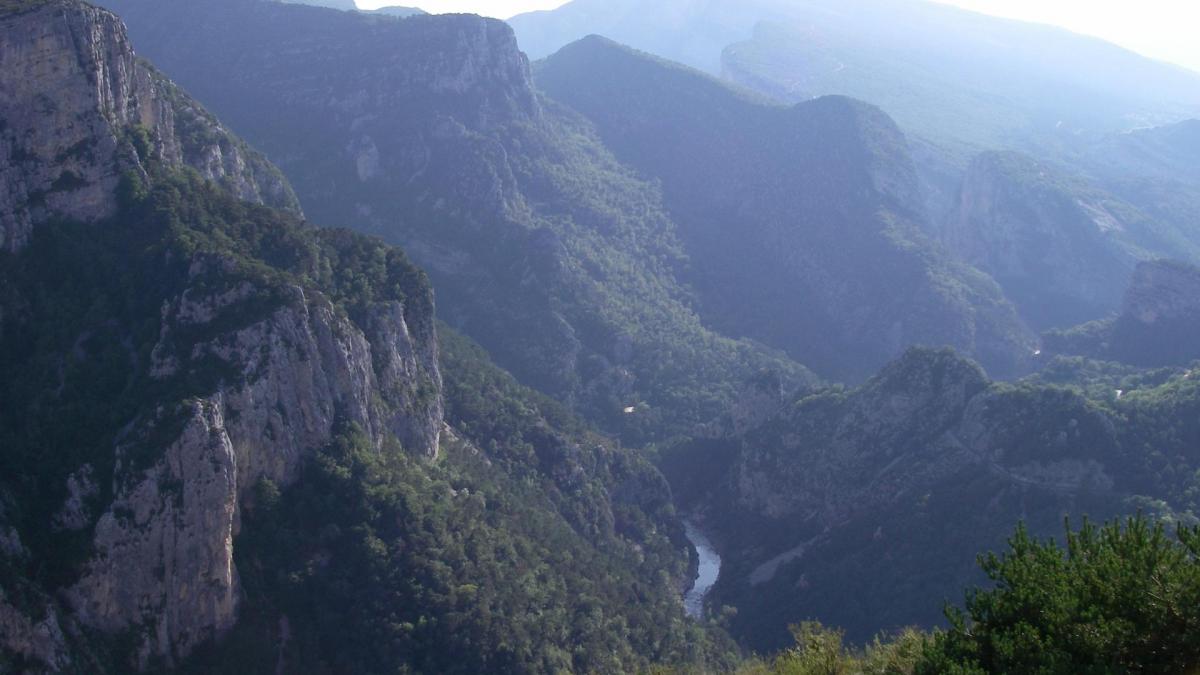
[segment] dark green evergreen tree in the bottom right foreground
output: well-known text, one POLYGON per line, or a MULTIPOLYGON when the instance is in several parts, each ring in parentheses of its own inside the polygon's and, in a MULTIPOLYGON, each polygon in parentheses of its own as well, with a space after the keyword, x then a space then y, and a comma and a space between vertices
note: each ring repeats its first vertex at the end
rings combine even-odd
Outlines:
POLYGON ((1068 526, 1067 548, 1024 526, 980 558, 992 590, 934 637, 918 673, 1194 673, 1200 667, 1200 528, 1144 516, 1068 526))

